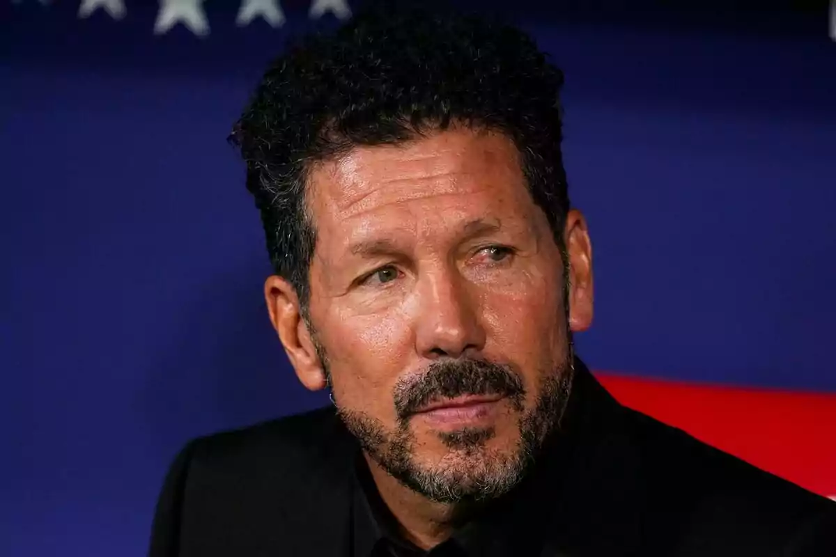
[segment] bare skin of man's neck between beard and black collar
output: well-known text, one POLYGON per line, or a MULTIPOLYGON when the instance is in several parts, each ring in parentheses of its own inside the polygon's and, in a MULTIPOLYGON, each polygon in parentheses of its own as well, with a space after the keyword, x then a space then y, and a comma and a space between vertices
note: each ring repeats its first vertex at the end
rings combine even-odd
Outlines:
POLYGON ((421 549, 431 549, 449 538, 461 524, 463 509, 426 499, 390 476, 369 455, 363 454, 380 499, 400 524, 401 534, 421 549))

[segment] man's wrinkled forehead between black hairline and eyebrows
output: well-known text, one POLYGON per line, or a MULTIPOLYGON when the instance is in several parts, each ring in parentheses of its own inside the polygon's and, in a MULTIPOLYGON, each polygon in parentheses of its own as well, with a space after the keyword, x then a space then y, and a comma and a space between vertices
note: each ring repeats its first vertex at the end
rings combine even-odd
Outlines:
POLYGON ((533 208, 512 140, 473 129, 355 148, 315 167, 308 185, 319 241, 421 222, 437 229, 440 222, 526 219, 533 208))

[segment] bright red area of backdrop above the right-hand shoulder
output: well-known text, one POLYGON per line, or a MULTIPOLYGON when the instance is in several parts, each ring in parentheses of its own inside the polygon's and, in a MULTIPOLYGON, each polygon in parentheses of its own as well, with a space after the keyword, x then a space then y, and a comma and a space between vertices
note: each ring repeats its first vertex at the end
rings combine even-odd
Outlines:
POLYGON ((595 376, 630 408, 815 493, 836 495, 836 394, 595 376))

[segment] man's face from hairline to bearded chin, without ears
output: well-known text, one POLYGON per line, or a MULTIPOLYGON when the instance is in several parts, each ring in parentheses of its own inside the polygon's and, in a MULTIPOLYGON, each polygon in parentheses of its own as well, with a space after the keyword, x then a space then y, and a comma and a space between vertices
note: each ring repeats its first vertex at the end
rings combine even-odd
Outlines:
POLYGON ((344 422, 431 499, 507 491, 571 375, 564 261, 514 144, 460 128, 360 147, 309 185, 310 322, 344 422))

